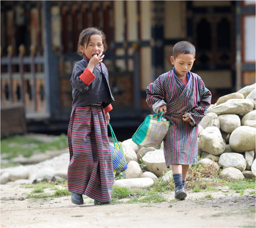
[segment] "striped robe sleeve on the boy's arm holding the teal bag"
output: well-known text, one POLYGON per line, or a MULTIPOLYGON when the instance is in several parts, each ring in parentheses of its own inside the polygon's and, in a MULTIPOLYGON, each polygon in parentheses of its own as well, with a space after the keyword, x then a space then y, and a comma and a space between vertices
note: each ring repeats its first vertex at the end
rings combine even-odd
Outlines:
MULTIPOLYGON (((149 107, 153 107, 153 105, 157 102, 160 103, 162 102, 163 104, 166 104, 165 100, 165 90, 164 90, 164 85, 161 80, 161 75, 152 83, 147 86, 146 89, 147 92, 147 98, 146 102, 149 105, 149 107)), ((163 105, 162 104, 162 105, 163 105)))

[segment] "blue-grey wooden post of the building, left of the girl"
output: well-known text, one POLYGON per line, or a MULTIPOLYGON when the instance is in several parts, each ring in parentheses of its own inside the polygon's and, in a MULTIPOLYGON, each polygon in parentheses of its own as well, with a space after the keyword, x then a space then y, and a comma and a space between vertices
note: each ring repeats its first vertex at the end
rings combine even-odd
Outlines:
POLYGON ((51 119, 58 118, 59 112, 59 72, 58 56, 52 51, 50 1, 43 1, 44 59, 45 59, 45 95, 51 119))

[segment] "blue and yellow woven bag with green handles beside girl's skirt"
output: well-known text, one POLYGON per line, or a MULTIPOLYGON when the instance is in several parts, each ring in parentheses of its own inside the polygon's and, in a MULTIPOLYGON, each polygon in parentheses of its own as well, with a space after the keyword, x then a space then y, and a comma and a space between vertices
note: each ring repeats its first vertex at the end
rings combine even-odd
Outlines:
POLYGON ((114 147, 112 145, 109 145, 110 151, 111 151, 112 162, 113 162, 113 170, 114 170, 114 172, 126 170, 127 163, 126 163, 125 154, 123 153, 123 146, 122 146, 121 142, 118 143, 118 141, 116 139, 116 135, 115 135, 114 130, 112 129, 110 123, 108 123, 108 125, 109 125, 110 132, 111 132, 113 142, 114 142, 114 147))

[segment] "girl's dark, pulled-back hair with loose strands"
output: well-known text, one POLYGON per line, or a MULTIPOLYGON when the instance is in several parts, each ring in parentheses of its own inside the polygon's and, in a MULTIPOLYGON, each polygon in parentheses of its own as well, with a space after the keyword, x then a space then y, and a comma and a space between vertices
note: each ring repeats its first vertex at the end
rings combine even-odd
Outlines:
POLYGON ((87 45, 90 42, 90 37, 91 35, 100 35, 102 37, 102 44, 104 47, 104 51, 107 50, 107 42, 106 42, 106 35, 103 33, 102 30, 95 28, 95 27, 91 27, 91 28, 85 28, 80 34, 79 34, 79 39, 78 39, 78 44, 77 44, 77 51, 76 54, 83 56, 84 53, 82 53, 79 49, 79 46, 82 45, 84 46, 84 44, 87 45))

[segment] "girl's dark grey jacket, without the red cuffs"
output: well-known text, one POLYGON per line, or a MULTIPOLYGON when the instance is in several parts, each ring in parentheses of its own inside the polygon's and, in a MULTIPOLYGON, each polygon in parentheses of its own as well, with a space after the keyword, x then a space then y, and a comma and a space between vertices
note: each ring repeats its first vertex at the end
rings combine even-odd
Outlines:
POLYGON ((92 73, 95 75, 90 85, 86 85, 79 76, 84 72, 89 61, 83 59, 77 62, 74 66, 70 79, 72 85, 73 102, 72 107, 86 106, 102 102, 103 107, 107 107, 114 97, 111 94, 109 87, 109 73, 104 63, 100 63, 101 69, 95 66, 92 73))

